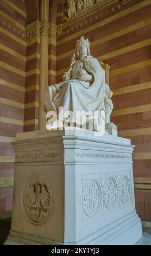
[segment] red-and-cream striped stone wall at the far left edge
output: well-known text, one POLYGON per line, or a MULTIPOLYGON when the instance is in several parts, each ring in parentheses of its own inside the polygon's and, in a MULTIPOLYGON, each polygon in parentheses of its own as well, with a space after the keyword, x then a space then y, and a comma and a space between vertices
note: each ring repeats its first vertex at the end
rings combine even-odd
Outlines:
POLYGON ((0 2, 0 211, 12 208, 14 150, 23 132, 26 81, 26 7, 22 1, 0 2))

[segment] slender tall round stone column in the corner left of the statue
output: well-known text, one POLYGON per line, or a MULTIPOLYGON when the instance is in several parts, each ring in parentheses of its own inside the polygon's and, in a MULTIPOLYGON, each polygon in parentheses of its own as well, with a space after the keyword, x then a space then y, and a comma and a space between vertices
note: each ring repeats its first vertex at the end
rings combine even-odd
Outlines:
POLYGON ((48 87, 49 0, 41 1, 39 130, 46 129, 45 92, 48 87))

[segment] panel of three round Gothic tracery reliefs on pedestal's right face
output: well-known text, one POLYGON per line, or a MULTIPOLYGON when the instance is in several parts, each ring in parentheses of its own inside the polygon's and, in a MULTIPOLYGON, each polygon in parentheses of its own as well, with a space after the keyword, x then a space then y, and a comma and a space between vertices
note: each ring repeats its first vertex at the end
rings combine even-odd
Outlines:
POLYGON ((131 174, 85 174, 81 176, 83 224, 116 212, 133 203, 131 174))

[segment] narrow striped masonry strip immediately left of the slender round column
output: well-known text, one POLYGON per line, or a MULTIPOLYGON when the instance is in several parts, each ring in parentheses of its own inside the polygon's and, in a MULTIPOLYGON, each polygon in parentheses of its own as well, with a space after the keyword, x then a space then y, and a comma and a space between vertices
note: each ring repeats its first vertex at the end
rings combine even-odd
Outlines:
MULTIPOLYGON (((26 31, 28 26, 26 26, 26 31)), ((27 37, 26 88, 24 97, 24 132, 38 129, 40 38, 27 37)))

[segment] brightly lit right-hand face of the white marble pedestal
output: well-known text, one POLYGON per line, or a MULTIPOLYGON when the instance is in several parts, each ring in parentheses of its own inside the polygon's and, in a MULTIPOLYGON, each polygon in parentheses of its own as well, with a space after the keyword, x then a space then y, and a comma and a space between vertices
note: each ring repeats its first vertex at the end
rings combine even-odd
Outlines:
POLYGON ((135 212, 133 146, 107 132, 97 139, 93 135, 76 131, 76 143, 64 138, 65 243, 133 245, 142 236, 135 212))

